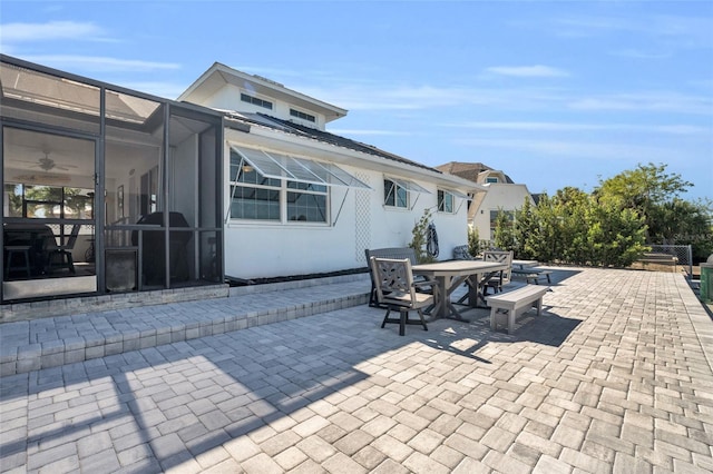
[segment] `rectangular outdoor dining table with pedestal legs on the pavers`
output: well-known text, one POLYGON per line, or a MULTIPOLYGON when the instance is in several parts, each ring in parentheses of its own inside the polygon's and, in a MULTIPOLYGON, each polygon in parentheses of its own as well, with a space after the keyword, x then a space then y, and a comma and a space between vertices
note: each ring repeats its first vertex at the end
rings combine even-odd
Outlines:
POLYGON ((471 307, 477 307, 478 299, 485 302, 481 292, 484 276, 491 276, 506 269, 508 269, 506 264, 484 260, 448 260, 413 266, 413 273, 426 275, 438 284, 433 295, 436 307, 431 312, 433 318, 451 318, 466 323, 468 319, 460 315, 450 299, 451 293, 466 279, 470 279, 468 303, 471 307))

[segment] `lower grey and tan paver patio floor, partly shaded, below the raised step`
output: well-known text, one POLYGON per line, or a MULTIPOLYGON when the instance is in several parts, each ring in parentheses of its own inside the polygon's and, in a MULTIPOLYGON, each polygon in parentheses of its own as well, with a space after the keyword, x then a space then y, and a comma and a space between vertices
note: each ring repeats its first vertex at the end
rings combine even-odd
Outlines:
POLYGON ((2 377, 0 468, 713 472, 713 325, 685 279, 555 274, 510 336, 477 309, 399 337, 360 305, 2 377))

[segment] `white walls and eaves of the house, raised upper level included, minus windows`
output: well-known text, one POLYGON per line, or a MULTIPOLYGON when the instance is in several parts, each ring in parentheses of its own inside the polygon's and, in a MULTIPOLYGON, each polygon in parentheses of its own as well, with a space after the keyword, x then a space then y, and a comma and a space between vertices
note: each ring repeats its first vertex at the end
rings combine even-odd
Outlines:
MULTIPOLYGON (((270 120, 262 122, 251 116, 255 112, 275 117, 289 122, 301 124, 325 131, 328 121, 346 115, 346 110, 292 91, 263 78, 245 75, 223 65, 214 65, 201 79, 184 92, 179 100, 187 100, 226 113, 224 130, 224 247, 225 275, 240 279, 267 278, 280 276, 310 275, 365 268, 368 266, 364 249, 381 247, 404 247, 412 239, 413 226, 421 219, 424 210, 431 209, 431 221, 439 236, 439 259, 450 259, 452 248, 467 243, 468 205, 462 197, 455 198, 453 213, 439 213, 438 189, 466 194, 479 188, 471 181, 451 175, 443 175, 432 168, 409 162, 385 152, 371 152, 360 148, 350 148, 349 140, 333 136, 322 140, 300 131, 271 127, 270 120), (272 109, 241 100, 241 93, 247 93, 272 102, 272 109), (290 108, 313 115, 315 122, 292 117, 290 108), (241 113, 245 113, 241 117, 241 113), (255 177, 255 169, 242 171, 244 160, 231 168, 232 147, 242 157, 240 149, 257 149, 273 155, 286 155, 310 159, 323 164, 333 164, 355 176, 371 187, 361 188, 329 187, 326 221, 291 220, 282 213, 283 201, 289 189, 280 189, 281 219, 256 220, 257 216, 274 219, 274 192, 270 181, 255 177), (236 210, 245 211, 246 218, 231 217, 233 196, 231 182, 233 174, 250 174, 250 178, 261 179, 238 185, 242 191, 261 189, 265 195, 235 199, 236 210), (410 192, 408 209, 384 206, 384 176, 400 178, 418 184, 431 194, 410 192), (266 190, 265 190, 266 189, 266 190), (270 195, 272 192, 272 195, 270 195), (267 198, 270 196, 270 198, 267 198), (245 204, 254 199, 255 208, 245 204), (261 201, 258 205, 257 201, 261 201)), ((274 121, 272 122, 275 124, 274 121)), ((234 156, 234 155, 233 155, 234 156)), ((258 166, 251 168, 260 168, 258 166)), ((258 170, 257 170, 258 171, 258 170)), ((262 192, 261 191, 261 192, 262 192)), ((294 216, 291 216, 294 217, 294 216)), ((306 216, 305 216, 306 217, 306 216)), ((312 217, 311 217, 312 218, 312 217)))

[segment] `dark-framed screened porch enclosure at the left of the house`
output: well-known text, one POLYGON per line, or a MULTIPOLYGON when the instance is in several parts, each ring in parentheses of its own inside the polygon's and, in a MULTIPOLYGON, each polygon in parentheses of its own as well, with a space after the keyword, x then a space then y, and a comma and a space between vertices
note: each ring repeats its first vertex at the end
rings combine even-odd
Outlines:
POLYGON ((2 300, 223 280, 222 117, 12 58, 2 300))

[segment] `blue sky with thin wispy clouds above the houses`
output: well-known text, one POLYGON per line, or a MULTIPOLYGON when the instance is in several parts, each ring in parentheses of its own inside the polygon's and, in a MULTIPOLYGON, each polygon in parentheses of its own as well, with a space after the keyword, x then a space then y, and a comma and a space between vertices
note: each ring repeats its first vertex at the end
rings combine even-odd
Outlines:
POLYGON ((213 62, 349 110, 328 130, 531 192, 666 164, 713 198, 713 1, 2 0, 0 50, 176 98, 213 62))

